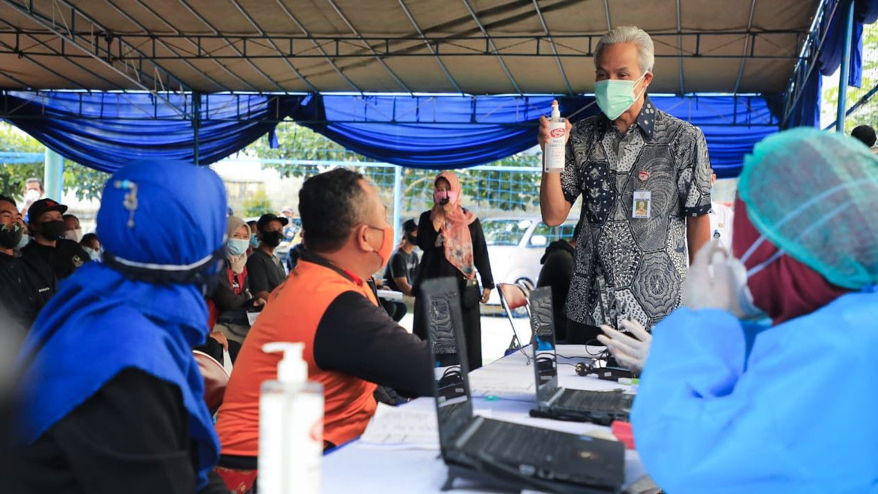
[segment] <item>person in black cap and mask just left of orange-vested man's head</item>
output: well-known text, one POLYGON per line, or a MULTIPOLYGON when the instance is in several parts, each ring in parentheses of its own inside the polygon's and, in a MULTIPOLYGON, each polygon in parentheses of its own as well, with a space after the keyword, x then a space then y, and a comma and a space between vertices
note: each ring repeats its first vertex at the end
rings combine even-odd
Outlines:
POLYGON ((284 267, 274 254, 284 236, 284 226, 289 220, 271 213, 263 214, 256 222, 256 235, 259 247, 247 259, 248 285, 250 293, 268 302, 271 290, 284 281, 284 267))

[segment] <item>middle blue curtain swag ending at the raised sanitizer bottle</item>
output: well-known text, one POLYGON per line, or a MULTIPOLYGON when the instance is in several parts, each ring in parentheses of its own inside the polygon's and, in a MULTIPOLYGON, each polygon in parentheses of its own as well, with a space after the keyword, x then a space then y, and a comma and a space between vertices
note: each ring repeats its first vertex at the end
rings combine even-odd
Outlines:
POLYGON ((534 147, 536 120, 551 109, 551 100, 322 95, 291 118, 374 160, 465 168, 534 147))

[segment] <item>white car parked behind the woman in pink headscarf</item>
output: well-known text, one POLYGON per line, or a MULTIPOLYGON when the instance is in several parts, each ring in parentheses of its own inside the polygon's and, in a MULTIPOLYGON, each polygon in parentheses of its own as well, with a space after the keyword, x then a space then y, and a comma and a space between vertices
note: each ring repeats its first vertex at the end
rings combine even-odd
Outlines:
MULTIPOLYGON (((481 224, 494 283, 515 283, 529 289, 536 286, 546 246, 555 240, 570 239, 576 228, 575 219, 547 226, 539 217, 486 218, 481 224)), ((488 304, 500 304, 497 290, 492 290, 488 304)))

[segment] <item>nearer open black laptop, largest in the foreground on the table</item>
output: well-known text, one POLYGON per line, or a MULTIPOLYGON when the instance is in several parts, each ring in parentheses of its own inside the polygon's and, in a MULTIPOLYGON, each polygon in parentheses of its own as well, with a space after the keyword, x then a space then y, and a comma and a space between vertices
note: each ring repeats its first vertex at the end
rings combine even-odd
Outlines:
MULTIPOLYGON (((453 339, 466 354, 457 281, 428 280, 418 298, 428 327, 432 362, 436 349, 453 339)), ((439 443, 449 478, 465 478, 493 488, 546 492, 620 492, 625 447, 617 441, 561 433, 474 416, 465 358, 435 369, 434 391, 439 443)))

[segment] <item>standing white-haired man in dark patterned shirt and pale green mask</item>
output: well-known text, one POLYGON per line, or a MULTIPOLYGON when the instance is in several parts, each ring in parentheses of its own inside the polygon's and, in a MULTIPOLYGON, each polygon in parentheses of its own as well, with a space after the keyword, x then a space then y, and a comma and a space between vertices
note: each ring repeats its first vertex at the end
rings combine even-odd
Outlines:
MULTIPOLYGON (((567 338, 593 340, 608 324, 650 328, 680 305, 688 259, 709 240, 710 161, 704 134, 646 96, 652 39, 616 27, 594 50, 602 114, 568 123, 565 168, 544 173, 543 221, 560 225, 583 197, 567 338), (687 249, 688 246, 688 249, 687 249), (688 253, 687 253, 688 250, 688 253)), ((548 139, 540 119, 538 141, 548 139)))

